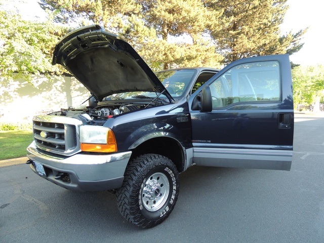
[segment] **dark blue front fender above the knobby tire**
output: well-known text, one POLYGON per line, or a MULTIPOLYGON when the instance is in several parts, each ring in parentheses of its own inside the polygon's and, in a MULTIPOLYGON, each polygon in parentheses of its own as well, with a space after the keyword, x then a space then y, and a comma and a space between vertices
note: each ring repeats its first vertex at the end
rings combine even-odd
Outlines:
POLYGON ((187 148, 191 143, 191 119, 186 100, 112 117, 104 125, 112 129, 118 151, 126 151, 158 136, 172 137, 187 148))

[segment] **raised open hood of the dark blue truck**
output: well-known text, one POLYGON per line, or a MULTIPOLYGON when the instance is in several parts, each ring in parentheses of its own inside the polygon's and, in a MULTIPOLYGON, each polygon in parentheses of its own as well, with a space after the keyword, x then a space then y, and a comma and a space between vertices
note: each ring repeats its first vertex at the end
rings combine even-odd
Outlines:
POLYGON ((130 91, 163 93, 173 98, 138 53, 99 25, 76 29, 56 45, 52 64, 61 64, 98 101, 130 91))

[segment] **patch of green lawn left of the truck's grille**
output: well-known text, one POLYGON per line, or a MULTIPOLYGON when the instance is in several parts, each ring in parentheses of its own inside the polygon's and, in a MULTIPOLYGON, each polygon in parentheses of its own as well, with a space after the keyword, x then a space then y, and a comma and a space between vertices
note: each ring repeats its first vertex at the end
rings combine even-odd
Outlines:
POLYGON ((26 156, 32 141, 31 131, 0 131, 0 160, 26 156))

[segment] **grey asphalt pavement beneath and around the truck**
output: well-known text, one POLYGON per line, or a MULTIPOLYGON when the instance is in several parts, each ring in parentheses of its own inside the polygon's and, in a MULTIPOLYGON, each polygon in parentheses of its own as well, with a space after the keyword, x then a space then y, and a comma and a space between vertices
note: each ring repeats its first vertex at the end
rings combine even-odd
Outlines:
POLYGON ((324 115, 296 114, 291 171, 191 167, 170 217, 125 222, 114 194, 0 168, 0 242, 324 242, 324 115))

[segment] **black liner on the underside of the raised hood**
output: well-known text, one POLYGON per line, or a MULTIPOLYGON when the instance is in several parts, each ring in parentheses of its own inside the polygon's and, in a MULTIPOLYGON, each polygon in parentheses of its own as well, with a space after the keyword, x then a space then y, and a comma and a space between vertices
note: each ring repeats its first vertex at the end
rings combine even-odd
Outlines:
POLYGON ((96 47, 79 53, 68 63, 68 70, 100 100, 107 94, 127 91, 157 91, 127 53, 96 47), (108 58, 109 57, 109 58, 108 58))

